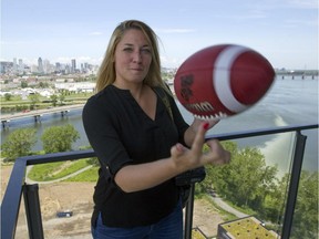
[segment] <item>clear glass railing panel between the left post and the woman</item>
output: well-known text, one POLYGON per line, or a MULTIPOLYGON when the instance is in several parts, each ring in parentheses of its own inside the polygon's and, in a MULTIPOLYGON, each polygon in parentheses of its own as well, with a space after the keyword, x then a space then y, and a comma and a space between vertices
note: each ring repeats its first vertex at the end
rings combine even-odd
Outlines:
POLYGON ((86 160, 41 164, 31 170, 28 167, 30 177, 27 181, 39 184, 45 239, 92 238, 91 215, 97 167, 86 160), (45 168, 50 168, 49 172, 45 168))

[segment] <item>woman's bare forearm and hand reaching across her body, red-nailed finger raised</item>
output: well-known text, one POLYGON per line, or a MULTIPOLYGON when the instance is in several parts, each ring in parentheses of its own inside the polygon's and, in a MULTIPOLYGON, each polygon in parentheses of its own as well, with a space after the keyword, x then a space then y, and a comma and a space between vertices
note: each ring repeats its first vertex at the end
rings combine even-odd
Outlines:
POLYGON ((182 144, 171 148, 171 157, 145 164, 125 165, 114 177, 123 191, 133 193, 155 187, 172 177, 206 164, 220 165, 230 160, 229 152, 225 150, 217 139, 208 141, 207 153, 203 153, 205 133, 209 123, 203 123, 195 135, 191 149, 182 144))

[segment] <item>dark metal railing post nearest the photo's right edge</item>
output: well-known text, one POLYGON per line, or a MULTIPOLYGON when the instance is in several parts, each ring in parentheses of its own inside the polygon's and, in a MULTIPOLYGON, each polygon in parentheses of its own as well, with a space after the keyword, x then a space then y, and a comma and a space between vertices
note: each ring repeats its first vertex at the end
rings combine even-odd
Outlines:
POLYGON ((306 139, 307 136, 302 135, 300 131, 296 132, 295 154, 294 154, 290 184, 289 184, 288 198, 286 204, 286 211, 281 233, 282 239, 289 239, 291 232, 296 199, 298 195, 299 178, 302 168, 306 139))

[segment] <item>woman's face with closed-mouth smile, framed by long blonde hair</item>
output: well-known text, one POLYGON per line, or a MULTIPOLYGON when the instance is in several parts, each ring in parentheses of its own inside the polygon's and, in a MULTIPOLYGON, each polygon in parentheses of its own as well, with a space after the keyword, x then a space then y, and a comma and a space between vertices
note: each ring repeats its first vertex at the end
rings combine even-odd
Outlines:
POLYGON ((127 30, 115 49, 115 82, 121 85, 142 83, 152 62, 151 51, 141 30, 127 30))

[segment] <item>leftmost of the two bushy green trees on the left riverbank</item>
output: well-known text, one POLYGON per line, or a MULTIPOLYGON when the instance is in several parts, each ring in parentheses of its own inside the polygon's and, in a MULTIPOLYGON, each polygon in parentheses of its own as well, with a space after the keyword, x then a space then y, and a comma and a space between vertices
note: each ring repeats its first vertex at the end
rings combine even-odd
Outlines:
POLYGON ((32 146, 37 143, 35 129, 19 128, 13 131, 1 145, 2 156, 6 160, 14 160, 17 157, 30 154, 32 146))

